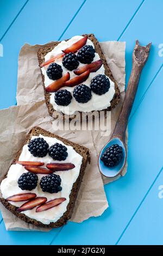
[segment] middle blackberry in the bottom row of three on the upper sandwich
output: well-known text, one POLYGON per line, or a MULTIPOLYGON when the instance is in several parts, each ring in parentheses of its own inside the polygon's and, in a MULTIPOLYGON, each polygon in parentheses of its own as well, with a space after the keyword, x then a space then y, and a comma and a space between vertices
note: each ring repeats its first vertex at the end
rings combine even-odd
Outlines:
POLYGON ((73 96, 79 103, 86 103, 92 97, 91 89, 85 84, 79 84, 73 89, 73 96))

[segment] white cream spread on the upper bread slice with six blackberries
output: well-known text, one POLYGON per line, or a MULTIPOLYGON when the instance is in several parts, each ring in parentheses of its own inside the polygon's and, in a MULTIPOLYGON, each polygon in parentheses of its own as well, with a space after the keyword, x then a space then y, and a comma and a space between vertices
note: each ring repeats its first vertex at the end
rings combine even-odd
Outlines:
MULTIPOLYGON (((45 61, 51 59, 52 57, 56 56, 59 53, 62 53, 62 50, 71 46, 72 44, 74 44, 75 42, 77 42, 78 40, 80 40, 82 38, 83 38, 83 36, 76 35, 76 36, 73 36, 68 41, 61 41, 60 44, 55 46, 51 52, 48 52, 46 54, 45 61)), ((86 45, 92 45, 94 47, 93 42, 90 39, 87 39, 86 45)), ((77 53, 75 53, 75 54, 77 54, 77 53)), ((93 58, 93 62, 95 62, 96 60, 99 60, 99 59, 100 59, 99 54, 96 52, 95 58, 93 58)), ((55 63, 61 65, 61 68, 63 70, 62 75, 65 75, 68 70, 62 65, 62 59, 55 60, 55 63)), ((85 64, 79 63, 78 68, 81 68, 82 66, 85 66, 85 64)), ((48 65, 43 66, 43 68, 41 68, 42 74, 45 76, 45 87, 49 86, 49 84, 54 82, 53 80, 48 78, 48 76, 46 74, 47 68, 48 68, 48 65)), ((76 77, 76 75, 73 73, 73 71, 68 71, 68 72, 70 72, 70 79, 76 77)), ((89 77, 87 78, 87 80, 85 82, 83 82, 83 84, 90 87, 92 78, 99 74, 102 74, 102 75, 105 74, 104 65, 102 65, 101 68, 98 69, 96 72, 91 72, 89 77)), ((115 84, 114 84, 114 82, 112 82, 110 80, 110 78, 109 78, 109 81, 110 81, 110 88, 109 88, 108 92, 106 92, 103 95, 97 95, 92 92, 91 99, 86 103, 79 103, 73 97, 71 103, 68 106, 59 106, 54 101, 55 93, 51 93, 51 100, 50 100, 51 104, 53 105, 53 107, 56 111, 62 112, 64 114, 70 114, 70 115, 74 114, 76 111, 91 112, 91 111, 103 110, 110 106, 110 101, 112 100, 112 98, 114 97, 114 94, 115 94, 115 84)), ((72 94, 74 87, 62 87, 61 89, 67 89, 72 94)))

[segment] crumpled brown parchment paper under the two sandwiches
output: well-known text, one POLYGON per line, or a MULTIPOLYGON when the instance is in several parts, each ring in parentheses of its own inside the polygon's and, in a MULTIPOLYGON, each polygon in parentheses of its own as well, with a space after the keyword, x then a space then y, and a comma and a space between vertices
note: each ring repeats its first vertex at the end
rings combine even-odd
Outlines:
MULTIPOLYGON (((17 105, 0 111, 0 175, 4 175, 21 148, 27 133, 33 126, 70 139, 90 149, 91 164, 86 168, 84 179, 78 193, 71 221, 82 222, 91 216, 99 216, 108 208, 103 182, 97 166, 97 155, 110 136, 124 98, 125 84, 125 42, 102 42, 101 47, 110 69, 121 90, 121 103, 111 112, 111 121, 107 131, 70 131, 58 130, 57 120, 48 114, 43 95, 37 50, 40 45, 25 44, 18 58, 17 105), (12 143, 11 143, 12 141, 12 143)), ((126 168, 124 170, 125 174, 126 168)), ((0 204, 5 227, 8 230, 43 230, 21 221, 0 204)))

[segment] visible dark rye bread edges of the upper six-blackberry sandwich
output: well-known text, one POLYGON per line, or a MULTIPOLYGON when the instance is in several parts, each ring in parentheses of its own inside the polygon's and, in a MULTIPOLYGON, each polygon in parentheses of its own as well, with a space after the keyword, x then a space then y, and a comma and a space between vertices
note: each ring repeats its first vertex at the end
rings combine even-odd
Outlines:
MULTIPOLYGON (((101 50, 101 47, 99 45, 98 40, 95 38, 95 35, 94 34, 85 34, 83 36, 86 36, 86 35, 93 42, 96 52, 99 54, 99 57, 103 61, 104 68, 105 68, 105 75, 108 76, 115 83, 115 95, 114 95, 113 99, 110 102, 111 106, 106 108, 106 109, 103 109, 105 111, 111 111, 111 109, 115 108, 116 105, 118 104, 118 102, 120 101, 120 90, 118 88, 118 84, 117 84, 116 80, 112 76, 112 73, 109 69, 109 66, 108 66, 107 62, 106 62, 105 56, 104 56, 104 54, 101 50)), ((45 46, 42 46, 39 49, 39 51, 37 52, 37 57, 39 59, 39 65, 41 65, 43 62, 45 62, 46 54, 48 52, 51 52, 53 50, 53 48, 55 46, 57 46, 59 43, 60 43, 60 41, 52 42, 51 44, 47 44, 45 46)), ((43 88, 44 88, 45 101, 46 101, 46 105, 47 105, 47 108, 48 108, 48 112, 49 112, 49 115, 51 115, 53 117, 53 113, 55 112, 55 109, 53 108, 53 105, 50 103, 51 94, 47 93, 46 90, 45 90, 45 84, 44 84, 45 78, 44 78, 42 72, 41 72, 41 76, 42 76, 42 85, 43 85, 43 88)))

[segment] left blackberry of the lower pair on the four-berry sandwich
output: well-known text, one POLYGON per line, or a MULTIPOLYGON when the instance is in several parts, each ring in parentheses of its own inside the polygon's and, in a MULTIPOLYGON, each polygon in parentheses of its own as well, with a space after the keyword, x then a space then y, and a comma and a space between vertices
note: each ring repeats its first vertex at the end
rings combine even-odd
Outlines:
POLYGON ((37 186, 38 177, 34 173, 23 173, 18 178, 18 186, 21 190, 33 190, 37 186))

